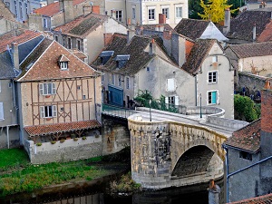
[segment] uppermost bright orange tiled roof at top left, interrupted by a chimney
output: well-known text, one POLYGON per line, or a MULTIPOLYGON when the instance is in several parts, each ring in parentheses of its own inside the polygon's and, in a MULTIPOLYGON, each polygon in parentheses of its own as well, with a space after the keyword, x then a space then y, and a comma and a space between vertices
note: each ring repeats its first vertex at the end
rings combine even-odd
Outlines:
MULTIPOLYGON (((79 5, 83 3, 85 0, 73 0, 73 5, 79 5)), ((60 3, 55 2, 50 5, 46 5, 44 7, 38 8, 34 10, 34 14, 37 15, 47 15, 47 16, 53 16, 60 12, 60 3)))

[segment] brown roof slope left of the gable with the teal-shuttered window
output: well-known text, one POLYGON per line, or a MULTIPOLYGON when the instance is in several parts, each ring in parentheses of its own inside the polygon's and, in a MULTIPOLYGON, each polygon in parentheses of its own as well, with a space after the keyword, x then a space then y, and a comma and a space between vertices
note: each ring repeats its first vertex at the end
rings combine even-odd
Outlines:
POLYGON ((181 68, 191 74, 198 73, 202 62, 216 42, 215 39, 198 39, 191 48, 186 63, 181 68))

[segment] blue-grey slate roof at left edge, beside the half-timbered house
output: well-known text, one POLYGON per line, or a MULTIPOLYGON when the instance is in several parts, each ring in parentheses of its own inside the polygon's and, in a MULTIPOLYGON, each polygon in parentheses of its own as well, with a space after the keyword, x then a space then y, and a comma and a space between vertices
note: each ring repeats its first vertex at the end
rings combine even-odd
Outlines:
POLYGON ((0 79, 15 78, 15 70, 8 51, 0 53, 0 79))

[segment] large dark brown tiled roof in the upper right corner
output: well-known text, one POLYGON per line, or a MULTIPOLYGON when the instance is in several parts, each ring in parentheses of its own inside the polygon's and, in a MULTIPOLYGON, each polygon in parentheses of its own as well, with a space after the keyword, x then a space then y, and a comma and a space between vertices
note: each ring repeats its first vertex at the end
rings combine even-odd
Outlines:
POLYGON ((250 10, 242 12, 236 18, 230 21, 230 31, 227 34, 228 38, 253 40, 253 26, 256 24, 256 37, 266 29, 267 24, 271 21, 271 11, 250 10))

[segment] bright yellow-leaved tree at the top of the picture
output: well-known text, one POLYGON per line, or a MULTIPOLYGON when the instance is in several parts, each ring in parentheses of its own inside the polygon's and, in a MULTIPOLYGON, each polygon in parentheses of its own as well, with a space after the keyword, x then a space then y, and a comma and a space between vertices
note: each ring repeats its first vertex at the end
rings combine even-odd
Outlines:
MULTIPOLYGON (((232 5, 228 5, 228 0, 209 0, 205 5, 203 0, 200 0, 200 6, 203 8, 203 14, 199 13, 202 19, 210 19, 213 23, 219 23, 224 20, 225 10, 232 5)), ((234 13, 237 9, 231 10, 234 13)))

